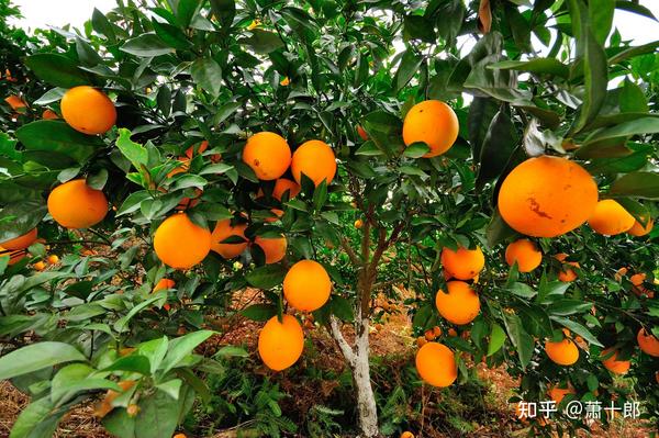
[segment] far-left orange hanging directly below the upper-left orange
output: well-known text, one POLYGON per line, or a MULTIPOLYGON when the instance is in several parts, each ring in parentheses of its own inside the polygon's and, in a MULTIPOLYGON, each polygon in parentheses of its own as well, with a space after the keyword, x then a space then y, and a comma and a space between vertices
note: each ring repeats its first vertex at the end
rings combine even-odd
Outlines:
POLYGON ((83 179, 76 179, 53 189, 48 195, 48 213, 66 228, 89 228, 108 214, 108 199, 83 179))

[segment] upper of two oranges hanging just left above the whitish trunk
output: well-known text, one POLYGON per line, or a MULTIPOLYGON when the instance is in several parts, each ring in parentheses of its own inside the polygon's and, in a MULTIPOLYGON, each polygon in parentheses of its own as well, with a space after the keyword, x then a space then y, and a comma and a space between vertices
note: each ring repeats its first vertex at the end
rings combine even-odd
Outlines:
POLYGON ((321 308, 332 292, 332 281, 317 261, 300 260, 283 279, 283 296, 291 306, 302 312, 321 308))

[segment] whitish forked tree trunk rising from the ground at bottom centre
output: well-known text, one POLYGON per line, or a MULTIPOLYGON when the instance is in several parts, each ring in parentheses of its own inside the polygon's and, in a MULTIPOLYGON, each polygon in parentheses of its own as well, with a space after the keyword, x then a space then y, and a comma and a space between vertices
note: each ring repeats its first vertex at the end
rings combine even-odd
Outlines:
POLYGON ((353 372, 353 382, 357 391, 357 414, 359 422, 360 437, 372 438, 379 435, 378 430, 378 408, 376 405, 376 395, 370 380, 369 364, 369 339, 368 328, 369 318, 361 317, 358 311, 355 322, 356 339, 355 347, 350 347, 340 333, 338 321, 332 316, 330 324, 332 336, 338 344, 338 347, 353 372))

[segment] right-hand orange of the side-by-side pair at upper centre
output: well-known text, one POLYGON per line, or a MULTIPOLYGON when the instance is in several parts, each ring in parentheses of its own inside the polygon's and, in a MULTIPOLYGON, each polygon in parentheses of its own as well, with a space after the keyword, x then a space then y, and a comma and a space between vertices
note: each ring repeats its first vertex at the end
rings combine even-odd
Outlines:
POLYGON ((316 187, 323 181, 330 186, 336 173, 336 157, 326 143, 311 139, 300 145, 293 153, 291 171, 298 183, 301 183, 304 173, 316 187))

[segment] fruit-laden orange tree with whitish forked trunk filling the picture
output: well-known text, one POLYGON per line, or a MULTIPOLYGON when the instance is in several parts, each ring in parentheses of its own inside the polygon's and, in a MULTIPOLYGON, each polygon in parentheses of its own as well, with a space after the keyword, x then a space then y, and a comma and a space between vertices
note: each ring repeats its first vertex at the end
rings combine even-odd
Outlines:
POLYGON ((659 44, 624 41, 615 8, 651 18, 613 0, 160 0, 38 32, 12 66, 32 78, 12 85, 24 116, 2 119, 0 377, 33 400, 12 437, 105 391, 113 435, 170 436, 223 372, 196 348, 236 312, 267 322, 273 371, 312 313, 377 436, 369 332, 392 301, 425 334, 427 384, 505 363, 517 400, 636 396, 657 422, 659 44), (247 287, 259 302, 236 310, 247 287))

